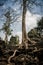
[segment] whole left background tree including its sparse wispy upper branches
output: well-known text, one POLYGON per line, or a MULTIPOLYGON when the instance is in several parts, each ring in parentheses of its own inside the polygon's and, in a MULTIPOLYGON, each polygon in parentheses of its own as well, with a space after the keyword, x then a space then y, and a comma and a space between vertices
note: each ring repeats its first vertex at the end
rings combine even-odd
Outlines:
POLYGON ((5 42, 8 44, 8 36, 11 35, 11 32, 13 30, 11 30, 11 24, 13 24, 14 22, 17 21, 17 19, 19 18, 18 16, 19 14, 16 13, 16 11, 14 11, 11 7, 8 7, 5 10, 4 16, 6 17, 6 21, 5 23, 3 23, 2 28, 0 29, 0 31, 4 31, 5 33, 5 42))

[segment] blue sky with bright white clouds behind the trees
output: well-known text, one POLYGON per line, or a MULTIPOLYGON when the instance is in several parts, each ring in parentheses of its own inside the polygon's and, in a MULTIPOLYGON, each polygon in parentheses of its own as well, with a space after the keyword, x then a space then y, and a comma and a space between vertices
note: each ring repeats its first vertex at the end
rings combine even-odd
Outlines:
MULTIPOLYGON (((34 27, 36 27, 37 20, 39 20, 43 16, 43 0, 38 0, 38 2, 41 2, 41 4, 42 4, 41 7, 34 5, 31 11, 27 9, 26 19, 25 19, 27 32, 30 31, 31 29, 33 29, 34 27)), ((0 28, 2 28, 3 23, 6 21, 4 14, 9 7, 12 8, 14 11, 16 11, 15 13, 21 14, 18 19, 19 22, 18 23, 15 22, 11 25, 11 29, 13 29, 12 35, 14 35, 14 36, 18 35, 20 42, 21 42, 21 39, 22 39, 22 33, 21 33, 22 32, 22 22, 21 22, 22 9, 18 11, 20 4, 18 2, 16 4, 14 4, 14 0, 0 0, 0 4, 1 3, 4 3, 4 5, 0 6, 0 28)), ((5 35, 3 32, 0 32, 0 37, 2 37, 3 39, 5 38, 5 35)))

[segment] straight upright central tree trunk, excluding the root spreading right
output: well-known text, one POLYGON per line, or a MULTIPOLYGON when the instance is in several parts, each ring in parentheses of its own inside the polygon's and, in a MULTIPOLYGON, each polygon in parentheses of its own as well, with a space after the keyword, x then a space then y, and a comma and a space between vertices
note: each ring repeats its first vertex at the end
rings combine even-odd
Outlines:
POLYGON ((22 44, 27 49, 27 44, 25 41, 27 41, 27 35, 26 35, 26 24, 25 24, 25 18, 26 18, 26 0, 23 0, 23 13, 22 13, 22 44))

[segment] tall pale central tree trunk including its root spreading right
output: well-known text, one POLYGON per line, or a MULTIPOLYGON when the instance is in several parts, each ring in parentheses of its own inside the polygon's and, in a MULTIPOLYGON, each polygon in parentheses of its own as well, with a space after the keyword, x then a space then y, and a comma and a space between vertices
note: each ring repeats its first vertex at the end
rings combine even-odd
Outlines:
POLYGON ((28 44, 36 43, 35 41, 31 41, 26 34, 26 11, 27 11, 27 0, 23 0, 23 13, 22 13, 22 45, 28 49, 28 44))

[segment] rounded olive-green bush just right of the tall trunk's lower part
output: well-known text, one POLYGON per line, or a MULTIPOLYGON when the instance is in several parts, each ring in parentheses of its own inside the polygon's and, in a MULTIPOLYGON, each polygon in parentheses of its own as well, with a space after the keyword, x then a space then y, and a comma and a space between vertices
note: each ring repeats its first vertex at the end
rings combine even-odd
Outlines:
POLYGON ((40 37, 40 33, 36 28, 33 28, 31 29, 29 32, 28 32, 28 37, 33 40, 33 41, 36 41, 36 42, 39 42, 41 40, 41 37, 40 37))

